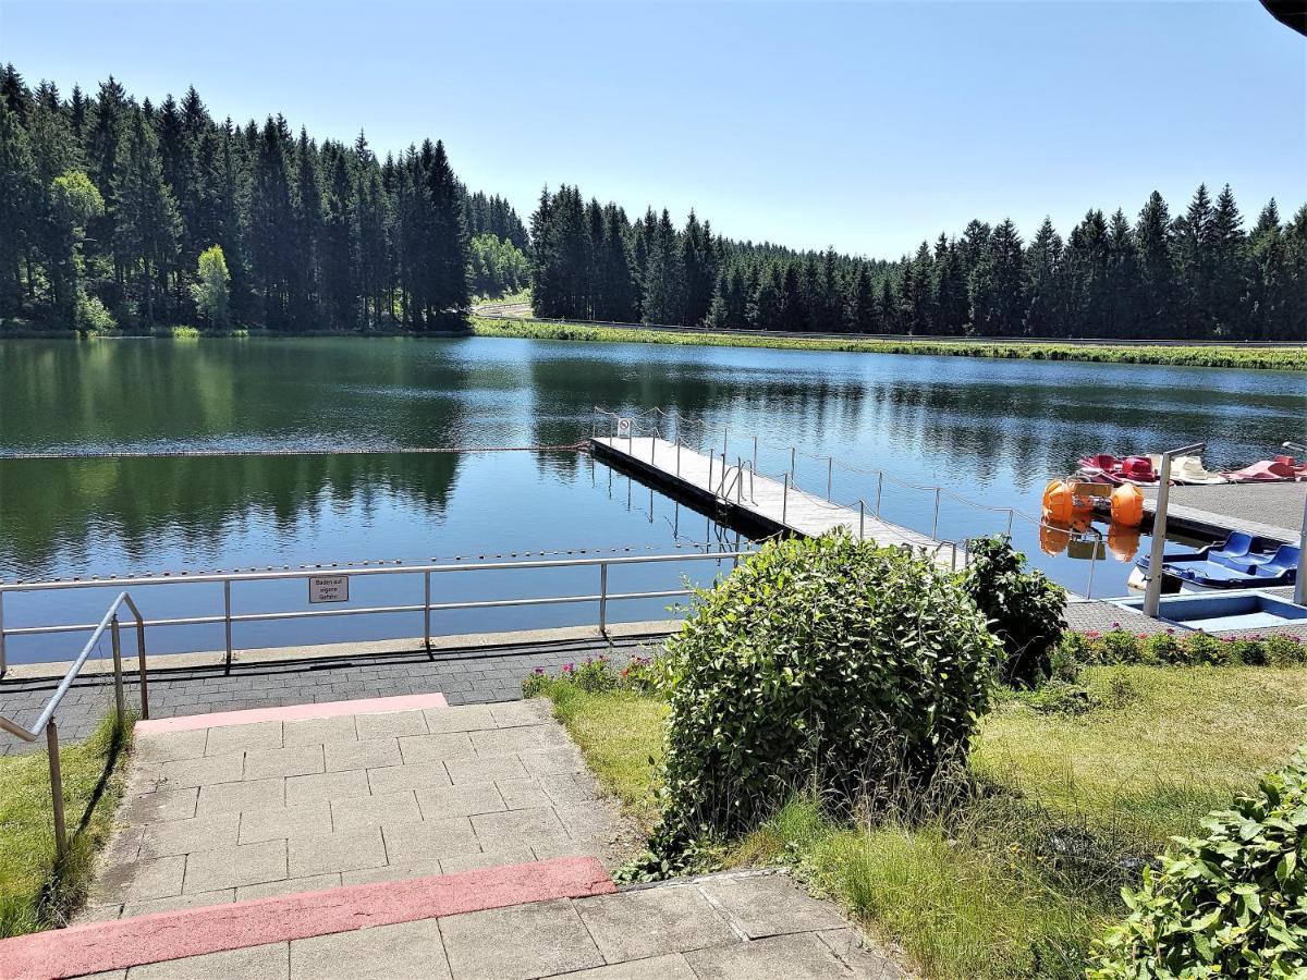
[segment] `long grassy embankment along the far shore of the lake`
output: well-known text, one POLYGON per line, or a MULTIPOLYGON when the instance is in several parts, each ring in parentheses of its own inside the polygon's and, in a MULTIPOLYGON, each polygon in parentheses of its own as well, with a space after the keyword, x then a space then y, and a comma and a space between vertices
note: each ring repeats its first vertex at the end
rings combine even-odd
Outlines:
POLYGON ((540 323, 536 320, 471 318, 481 337, 532 340, 582 340, 626 344, 672 344, 682 346, 772 348, 780 350, 831 350, 864 354, 948 354, 1025 361, 1090 361, 1098 363, 1174 365, 1182 367, 1242 367, 1307 371, 1307 346, 1214 348, 1214 346, 1115 346, 1090 344, 1002 344, 968 340, 836 340, 821 337, 765 337, 740 333, 674 333, 587 324, 540 323))

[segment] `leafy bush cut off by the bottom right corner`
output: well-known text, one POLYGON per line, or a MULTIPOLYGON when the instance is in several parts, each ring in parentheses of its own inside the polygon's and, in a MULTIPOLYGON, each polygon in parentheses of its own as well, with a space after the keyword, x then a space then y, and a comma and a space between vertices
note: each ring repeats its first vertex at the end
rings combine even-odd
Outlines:
POLYGON ((1123 892, 1131 916, 1095 945, 1093 980, 1307 975, 1307 757, 1202 826, 1123 892))

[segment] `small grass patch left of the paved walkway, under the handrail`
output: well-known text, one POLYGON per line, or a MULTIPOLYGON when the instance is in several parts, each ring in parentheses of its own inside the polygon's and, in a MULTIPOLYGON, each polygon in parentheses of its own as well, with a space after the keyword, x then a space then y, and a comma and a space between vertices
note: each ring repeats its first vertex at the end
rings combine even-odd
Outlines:
POLYGON ((0 937, 67 925, 85 899, 122 794, 129 732, 108 717, 60 749, 71 848, 59 868, 46 754, 0 758, 0 937))

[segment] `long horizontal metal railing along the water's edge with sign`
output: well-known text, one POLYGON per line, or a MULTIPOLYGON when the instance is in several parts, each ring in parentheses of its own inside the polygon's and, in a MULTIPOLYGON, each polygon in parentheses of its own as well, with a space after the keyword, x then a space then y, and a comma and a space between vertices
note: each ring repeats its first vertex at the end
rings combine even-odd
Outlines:
MULTIPOLYGON (((251 572, 208 572, 200 575, 152 575, 131 579, 133 588, 142 585, 196 585, 217 584, 222 587, 222 614, 221 615, 183 615, 162 619, 144 619, 141 629, 146 626, 213 626, 222 625, 225 629, 225 666, 231 669, 233 639, 231 629, 237 623, 280 622, 294 619, 319 619, 339 615, 378 615, 392 613, 422 613, 422 643, 431 649, 431 613, 454 609, 506 609, 510 606, 549 606, 569 605, 576 602, 599 604, 599 629, 608 629, 608 604, 640 598, 674 598, 691 595, 691 589, 652 589, 644 592, 610 592, 608 588, 608 571, 610 567, 664 564, 668 562, 731 562, 732 567, 740 558, 752 554, 749 550, 732 551, 706 551, 660 555, 629 555, 617 558, 563 558, 523 562, 485 562, 478 564, 375 564, 365 567, 319 567, 319 568, 286 568, 281 571, 251 571, 251 572), (599 591, 579 596, 532 596, 521 598, 488 598, 469 600, 461 602, 433 602, 431 579, 437 575, 473 574, 488 571, 525 571, 548 568, 595 568, 599 574, 599 591), (363 578, 369 575, 409 575, 422 578, 422 602, 405 605, 382 606, 341 606, 337 609, 286 609, 267 613, 234 613, 231 608, 231 585, 240 581, 285 581, 303 580, 331 576, 331 578, 363 578)), ((13 636, 46 636, 65 632, 84 632, 97 629, 94 623, 72 623, 59 626, 14 626, 4 625, 4 600, 10 592, 52 592, 63 589, 86 589, 111 587, 125 580, 118 579, 64 579, 56 581, 20 581, 0 584, 0 673, 5 666, 5 640, 13 636)), ((123 593, 125 597, 125 593, 123 593)), ((127 600, 131 601, 131 600, 127 600)), ((135 606, 132 606, 135 610, 135 606)), ((141 634, 144 638, 144 632, 141 634)))

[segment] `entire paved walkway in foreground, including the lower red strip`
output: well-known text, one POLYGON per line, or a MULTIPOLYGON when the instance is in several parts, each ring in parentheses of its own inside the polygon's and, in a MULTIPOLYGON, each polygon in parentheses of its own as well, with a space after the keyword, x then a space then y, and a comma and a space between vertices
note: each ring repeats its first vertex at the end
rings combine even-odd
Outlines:
POLYGON ((903 976, 783 873, 618 890, 638 840, 542 699, 141 721, 91 904, 0 975, 903 976))

